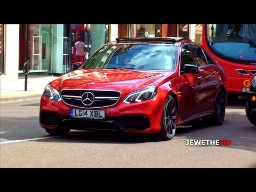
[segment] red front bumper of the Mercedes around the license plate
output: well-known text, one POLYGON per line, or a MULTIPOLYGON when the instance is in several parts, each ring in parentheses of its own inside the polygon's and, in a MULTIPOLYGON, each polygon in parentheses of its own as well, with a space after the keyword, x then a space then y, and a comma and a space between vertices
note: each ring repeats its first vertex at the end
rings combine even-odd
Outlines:
POLYGON ((106 110, 105 119, 84 119, 70 117, 70 109, 81 109, 66 105, 62 100, 53 101, 41 97, 39 122, 45 129, 116 130, 135 133, 157 133, 161 130, 163 103, 166 95, 158 91, 154 99, 123 103, 106 110))

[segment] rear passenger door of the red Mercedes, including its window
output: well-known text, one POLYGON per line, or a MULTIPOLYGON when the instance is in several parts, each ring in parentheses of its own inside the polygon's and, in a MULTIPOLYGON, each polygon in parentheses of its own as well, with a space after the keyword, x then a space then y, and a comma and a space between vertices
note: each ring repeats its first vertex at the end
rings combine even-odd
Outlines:
POLYGON ((215 76, 213 67, 209 64, 201 47, 190 44, 191 51, 199 68, 198 84, 197 84, 197 111, 198 113, 206 113, 213 109, 214 93, 216 89, 215 76))

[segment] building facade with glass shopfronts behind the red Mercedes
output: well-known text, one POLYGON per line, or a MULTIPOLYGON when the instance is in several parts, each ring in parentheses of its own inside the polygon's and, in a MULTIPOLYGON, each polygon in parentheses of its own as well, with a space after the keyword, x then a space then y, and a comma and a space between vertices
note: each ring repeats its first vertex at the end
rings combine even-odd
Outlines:
MULTIPOLYGON (((0 24, 1 82, 29 77, 63 75, 77 62, 78 37, 87 45, 83 60, 103 44, 124 37, 185 37, 200 43, 198 24, 0 24)), ((202 27, 201 27, 202 28, 202 27)))

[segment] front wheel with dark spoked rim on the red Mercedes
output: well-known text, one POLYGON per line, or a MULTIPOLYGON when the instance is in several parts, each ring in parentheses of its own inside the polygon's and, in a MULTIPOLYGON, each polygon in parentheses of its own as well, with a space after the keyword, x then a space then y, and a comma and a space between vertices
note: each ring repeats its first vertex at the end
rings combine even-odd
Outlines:
POLYGON ((167 141, 174 137, 177 129, 177 110, 177 103, 171 95, 168 95, 164 102, 159 140, 167 141))

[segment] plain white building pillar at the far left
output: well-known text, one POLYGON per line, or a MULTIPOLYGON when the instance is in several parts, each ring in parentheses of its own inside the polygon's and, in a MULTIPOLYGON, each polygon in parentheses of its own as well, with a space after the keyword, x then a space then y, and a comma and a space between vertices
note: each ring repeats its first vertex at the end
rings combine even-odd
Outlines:
POLYGON ((19 32, 19 24, 6 24, 4 49, 5 74, 1 75, 1 81, 18 81, 19 32))

